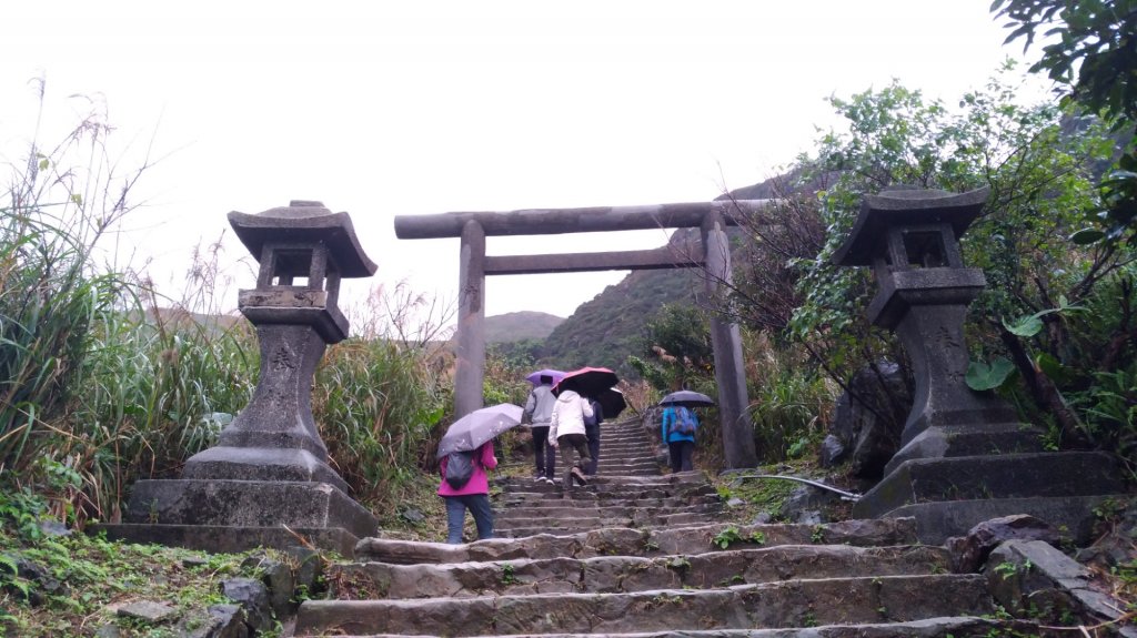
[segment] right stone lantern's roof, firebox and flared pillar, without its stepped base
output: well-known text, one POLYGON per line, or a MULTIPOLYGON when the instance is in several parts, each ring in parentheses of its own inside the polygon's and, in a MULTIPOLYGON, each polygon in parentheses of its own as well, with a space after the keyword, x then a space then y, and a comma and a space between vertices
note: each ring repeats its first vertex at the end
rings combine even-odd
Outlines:
MULTIPOLYGON (((1027 444, 1014 411, 966 386, 968 305, 986 287, 982 270, 964 268, 960 237, 982 211, 988 188, 962 194, 896 188, 868 195, 838 266, 871 266, 877 296, 869 320, 899 337, 915 392, 886 473, 910 457, 960 455, 1027 444), (955 448, 954 451, 952 448, 955 448)), ((1037 438, 1037 437, 1034 437, 1037 438)))

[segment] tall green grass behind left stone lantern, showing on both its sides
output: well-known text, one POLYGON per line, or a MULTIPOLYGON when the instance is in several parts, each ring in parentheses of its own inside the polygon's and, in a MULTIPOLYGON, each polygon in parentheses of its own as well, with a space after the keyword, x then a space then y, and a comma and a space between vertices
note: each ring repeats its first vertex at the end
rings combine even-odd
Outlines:
MULTIPOLYGON (((117 520, 134 481, 214 445, 259 364, 251 326, 219 310, 219 243, 196 252, 181 301, 98 263, 141 174, 115 177, 100 123, 51 153, 33 144, 0 209, 0 489, 47 496, 76 524, 117 520)), ((377 507, 432 467, 450 394, 441 319, 413 324, 445 309, 396 292, 357 313, 363 337, 329 349, 313 397, 333 465, 377 507)))

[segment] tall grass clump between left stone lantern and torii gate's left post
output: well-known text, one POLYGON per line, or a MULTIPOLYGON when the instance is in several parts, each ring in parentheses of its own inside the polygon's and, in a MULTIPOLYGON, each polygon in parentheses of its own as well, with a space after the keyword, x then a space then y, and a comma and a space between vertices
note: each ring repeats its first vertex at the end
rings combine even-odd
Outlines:
POLYGON ((375 289, 349 311, 360 336, 330 347, 316 371, 313 417, 331 463, 375 511, 397 509, 434 467, 453 396, 447 312, 401 284, 375 289))

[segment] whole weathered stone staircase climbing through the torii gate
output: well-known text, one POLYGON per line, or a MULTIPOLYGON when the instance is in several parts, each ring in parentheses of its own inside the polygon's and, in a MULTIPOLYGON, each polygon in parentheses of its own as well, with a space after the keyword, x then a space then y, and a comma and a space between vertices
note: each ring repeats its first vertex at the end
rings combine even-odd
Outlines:
POLYGON ((359 542, 294 635, 1039 635, 991 620, 986 578, 949 573, 912 519, 732 526, 700 475, 659 475, 638 423, 605 423, 600 457, 584 487, 500 481, 501 538, 359 542))

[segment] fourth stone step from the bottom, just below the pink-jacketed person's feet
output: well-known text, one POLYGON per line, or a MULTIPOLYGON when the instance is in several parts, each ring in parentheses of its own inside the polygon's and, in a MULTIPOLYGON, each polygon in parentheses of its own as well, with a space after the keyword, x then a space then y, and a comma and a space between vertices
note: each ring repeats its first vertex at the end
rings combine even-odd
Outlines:
POLYGON ((364 538, 356 544, 355 560, 416 564, 617 555, 661 556, 749 548, 756 546, 758 539, 763 542, 763 547, 821 544, 870 547, 918 543, 915 519, 854 519, 816 526, 713 523, 680 529, 606 528, 563 536, 541 534, 525 538, 493 538, 463 545, 364 538))

